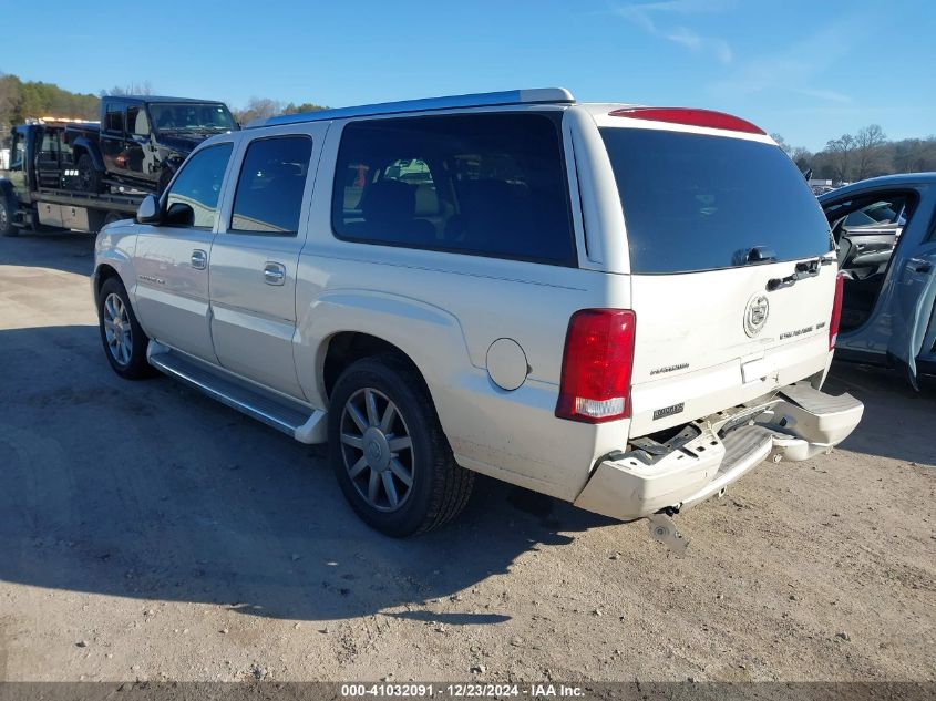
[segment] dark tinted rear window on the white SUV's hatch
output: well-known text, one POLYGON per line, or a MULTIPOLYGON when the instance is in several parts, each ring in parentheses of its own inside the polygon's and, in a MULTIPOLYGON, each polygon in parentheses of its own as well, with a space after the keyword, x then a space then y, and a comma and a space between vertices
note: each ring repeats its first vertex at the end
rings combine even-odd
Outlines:
POLYGON ((748 265, 758 255, 789 261, 832 250, 819 203, 778 146, 657 130, 600 131, 634 272, 713 270, 748 265))

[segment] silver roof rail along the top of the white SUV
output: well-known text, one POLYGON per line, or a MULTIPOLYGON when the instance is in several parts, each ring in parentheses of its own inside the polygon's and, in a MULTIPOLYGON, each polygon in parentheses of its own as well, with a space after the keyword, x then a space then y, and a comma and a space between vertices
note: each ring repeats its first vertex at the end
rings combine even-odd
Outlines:
POLYGON ((445 97, 426 97, 423 100, 403 100, 401 102, 381 102, 372 105, 354 107, 338 107, 335 110, 319 110, 318 112, 301 112, 299 114, 282 114, 280 116, 258 118, 251 121, 247 128, 257 126, 274 126, 276 124, 298 124, 301 122, 321 122, 323 120, 340 120, 352 116, 376 116, 380 114, 398 114, 400 112, 426 112, 431 110, 452 110, 459 107, 488 107, 511 104, 543 104, 573 103, 575 97, 565 87, 534 87, 529 90, 506 90, 494 93, 474 93, 469 95, 448 95, 445 97))

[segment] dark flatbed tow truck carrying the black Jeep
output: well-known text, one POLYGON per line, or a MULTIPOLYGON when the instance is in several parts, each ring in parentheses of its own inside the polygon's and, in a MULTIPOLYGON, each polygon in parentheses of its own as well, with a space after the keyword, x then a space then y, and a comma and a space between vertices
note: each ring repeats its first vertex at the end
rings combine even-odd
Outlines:
POLYGON ((0 236, 72 229, 96 233, 126 219, 146 196, 119 184, 81 192, 65 127, 78 120, 43 117, 12 128, 10 165, 0 171, 0 236))

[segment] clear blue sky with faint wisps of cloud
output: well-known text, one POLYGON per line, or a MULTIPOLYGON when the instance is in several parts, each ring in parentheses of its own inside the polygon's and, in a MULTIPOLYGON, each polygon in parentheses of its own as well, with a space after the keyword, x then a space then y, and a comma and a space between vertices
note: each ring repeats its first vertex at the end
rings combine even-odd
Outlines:
POLYGON ((928 0, 2 4, 20 17, 0 71, 79 92, 343 106, 558 85, 731 112, 812 150, 870 123, 936 134, 928 0))

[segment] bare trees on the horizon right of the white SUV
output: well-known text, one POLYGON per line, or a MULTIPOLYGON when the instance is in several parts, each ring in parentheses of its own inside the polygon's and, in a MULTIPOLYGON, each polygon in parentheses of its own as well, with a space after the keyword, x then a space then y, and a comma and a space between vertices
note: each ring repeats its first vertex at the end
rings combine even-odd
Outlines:
POLYGON ((833 183, 854 183, 892 173, 936 171, 936 135, 926 138, 889 141, 878 124, 854 134, 831 138, 816 153, 791 146, 780 134, 771 134, 800 171, 812 171, 814 178, 833 183))

